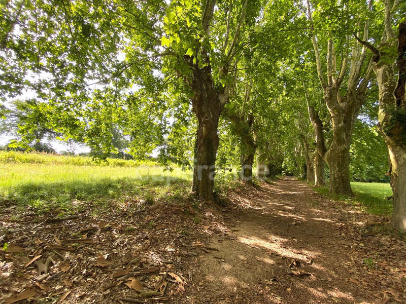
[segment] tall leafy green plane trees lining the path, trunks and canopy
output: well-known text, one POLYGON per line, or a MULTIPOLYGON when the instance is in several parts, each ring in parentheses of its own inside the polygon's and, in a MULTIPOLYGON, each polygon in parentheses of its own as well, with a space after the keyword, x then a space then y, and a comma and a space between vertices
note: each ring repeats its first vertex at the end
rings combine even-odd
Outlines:
POLYGON ((163 163, 190 164, 208 201, 216 163, 239 160, 250 182, 255 159, 259 176, 306 167, 317 185, 327 164, 330 193, 350 196, 351 155, 384 155, 379 131, 404 230, 405 11, 398 0, 10 1, 0 94, 27 99, 21 144, 41 126, 104 157, 119 130, 133 157, 159 147, 163 163))

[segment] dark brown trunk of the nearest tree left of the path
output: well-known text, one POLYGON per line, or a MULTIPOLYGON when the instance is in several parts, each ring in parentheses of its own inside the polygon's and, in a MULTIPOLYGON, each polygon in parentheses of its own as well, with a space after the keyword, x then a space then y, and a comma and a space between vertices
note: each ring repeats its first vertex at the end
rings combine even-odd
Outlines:
POLYGON ((219 94, 214 89, 211 66, 195 67, 191 84, 193 112, 198 121, 194 146, 192 192, 200 199, 213 201, 213 184, 219 137, 217 134, 222 110, 219 94))

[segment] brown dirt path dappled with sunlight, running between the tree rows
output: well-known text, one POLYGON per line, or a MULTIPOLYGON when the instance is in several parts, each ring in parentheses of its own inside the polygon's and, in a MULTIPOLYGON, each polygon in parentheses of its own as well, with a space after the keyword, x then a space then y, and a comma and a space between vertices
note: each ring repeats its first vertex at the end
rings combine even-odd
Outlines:
POLYGON ((291 177, 230 196, 223 224, 206 227, 192 303, 406 303, 406 246, 385 218, 291 177))

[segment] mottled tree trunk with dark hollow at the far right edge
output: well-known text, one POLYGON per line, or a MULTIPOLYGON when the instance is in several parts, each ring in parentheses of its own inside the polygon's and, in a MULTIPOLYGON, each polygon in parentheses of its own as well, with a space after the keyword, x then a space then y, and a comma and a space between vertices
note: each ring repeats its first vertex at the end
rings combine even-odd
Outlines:
MULTIPOLYGON (((390 5, 385 2, 385 23, 388 40, 392 38, 390 5)), ((379 88, 378 121, 388 146, 390 178, 393 191, 393 225, 406 231, 406 105, 404 85, 406 83, 406 23, 400 23, 398 36, 399 76, 396 86, 394 64, 381 60, 385 53, 374 57, 374 72, 379 88)))

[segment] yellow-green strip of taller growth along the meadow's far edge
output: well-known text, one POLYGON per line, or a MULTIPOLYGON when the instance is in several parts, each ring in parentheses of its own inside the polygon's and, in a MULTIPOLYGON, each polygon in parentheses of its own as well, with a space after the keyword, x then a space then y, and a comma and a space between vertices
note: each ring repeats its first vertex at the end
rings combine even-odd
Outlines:
POLYGON ((65 156, 47 153, 21 153, 16 151, 0 151, 0 163, 112 167, 159 166, 159 163, 153 161, 134 161, 111 158, 107 159, 107 161, 93 161, 92 158, 84 156, 65 156))

